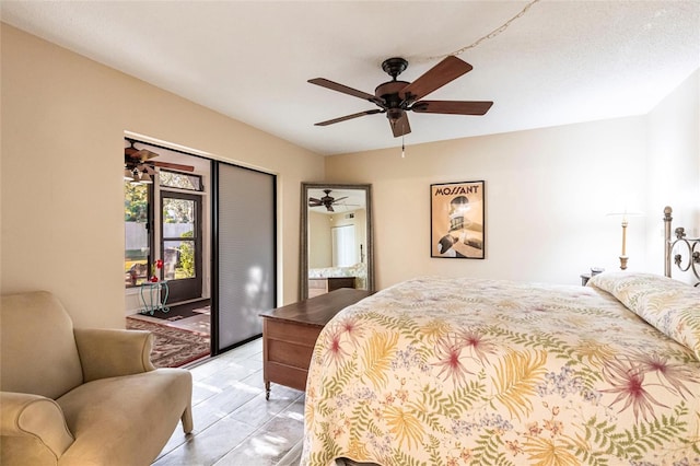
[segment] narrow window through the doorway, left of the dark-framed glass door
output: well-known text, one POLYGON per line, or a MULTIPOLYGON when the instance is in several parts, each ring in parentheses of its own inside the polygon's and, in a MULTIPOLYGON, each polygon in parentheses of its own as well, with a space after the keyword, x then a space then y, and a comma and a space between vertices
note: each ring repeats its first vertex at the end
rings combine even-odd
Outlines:
POLYGON ((149 278, 151 266, 150 185, 124 182, 125 286, 137 287, 149 278))

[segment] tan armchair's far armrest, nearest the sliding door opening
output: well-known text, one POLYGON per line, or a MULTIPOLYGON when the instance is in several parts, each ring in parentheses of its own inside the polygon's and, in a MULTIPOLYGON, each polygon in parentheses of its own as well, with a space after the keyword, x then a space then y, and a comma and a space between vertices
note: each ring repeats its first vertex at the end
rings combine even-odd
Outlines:
POLYGON ((85 382, 148 372, 153 336, 145 330, 73 328, 85 382))

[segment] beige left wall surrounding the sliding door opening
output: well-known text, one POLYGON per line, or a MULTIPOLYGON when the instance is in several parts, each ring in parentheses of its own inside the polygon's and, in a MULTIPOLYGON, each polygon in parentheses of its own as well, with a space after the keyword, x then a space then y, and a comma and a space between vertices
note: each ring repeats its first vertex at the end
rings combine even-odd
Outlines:
POLYGON ((125 131, 278 175, 278 286, 298 295, 300 183, 323 158, 2 24, 2 293, 124 327, 125 131))

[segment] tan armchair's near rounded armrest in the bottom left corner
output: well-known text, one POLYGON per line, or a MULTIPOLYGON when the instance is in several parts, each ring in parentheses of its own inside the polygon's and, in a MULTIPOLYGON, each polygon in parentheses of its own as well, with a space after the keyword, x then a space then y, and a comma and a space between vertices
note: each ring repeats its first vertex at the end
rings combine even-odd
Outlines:
POLYGON ((38 440, 58 459, 75 440, 56 401, 40 395, 0 393, 0 431, 3 436, 38 440))

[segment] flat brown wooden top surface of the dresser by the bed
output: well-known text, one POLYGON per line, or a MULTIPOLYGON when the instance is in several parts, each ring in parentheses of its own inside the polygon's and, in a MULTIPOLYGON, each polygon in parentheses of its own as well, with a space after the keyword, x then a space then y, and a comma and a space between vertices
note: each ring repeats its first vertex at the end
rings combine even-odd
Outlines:
POLYGON ((366 290, 341 288, 308 300, 266 311, 260 313, 260 316, 323 327, 340 311, 371 294, 372 292, 366 290))

